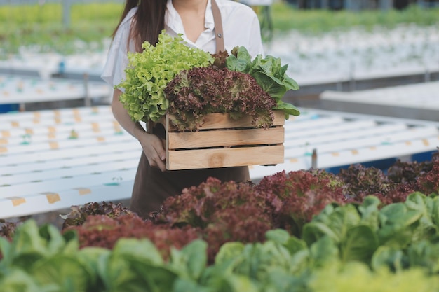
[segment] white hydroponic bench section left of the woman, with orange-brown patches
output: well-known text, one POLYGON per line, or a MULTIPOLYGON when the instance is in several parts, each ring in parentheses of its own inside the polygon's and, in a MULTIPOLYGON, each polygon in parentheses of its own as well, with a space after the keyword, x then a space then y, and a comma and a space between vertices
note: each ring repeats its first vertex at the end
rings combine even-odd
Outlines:
POLYGON ((0 217, 128 197, 140 144, 109 106, 0 115, 0 217))

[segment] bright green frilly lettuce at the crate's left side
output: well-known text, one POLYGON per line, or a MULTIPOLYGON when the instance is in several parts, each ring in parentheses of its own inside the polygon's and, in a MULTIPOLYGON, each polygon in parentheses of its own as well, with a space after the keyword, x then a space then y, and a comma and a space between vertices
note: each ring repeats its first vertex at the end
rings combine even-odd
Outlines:
POLYGON ((173 37, 164 31, 158 43, 142 44, 141 53, 128 53, 126 78, 116 88, 125 91, 120 101, 133 120, 158 121, 166 114, 169 102, 163 90, 182 70, 208 67, 214 61, 210 53, 185 44, 181 34, 173 37))

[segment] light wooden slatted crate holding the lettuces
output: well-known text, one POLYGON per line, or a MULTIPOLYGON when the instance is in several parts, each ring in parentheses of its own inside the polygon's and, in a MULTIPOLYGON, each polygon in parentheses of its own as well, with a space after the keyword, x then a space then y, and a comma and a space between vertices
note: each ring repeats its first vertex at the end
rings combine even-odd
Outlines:
POLYGON ((268 129, 252 126, 252 118, 232 120, 228 114, 211 113, 198 132, 177 132, 168 116, 166 169, 203 169, 245 165, 276 165, 284 161, 285 115, 275 111, 268 129))

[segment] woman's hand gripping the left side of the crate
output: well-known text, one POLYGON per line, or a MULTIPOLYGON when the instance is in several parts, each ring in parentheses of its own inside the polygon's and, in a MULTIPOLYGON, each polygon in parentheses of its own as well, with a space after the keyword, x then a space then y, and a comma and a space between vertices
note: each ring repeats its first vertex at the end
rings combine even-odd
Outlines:
POLYGON ((140 132, 135 135, 142 145, 144 154, 147 156, 151 167, 158 167, 162 172, 166 171, 166 151, 163 140, 154 134, 140 132))

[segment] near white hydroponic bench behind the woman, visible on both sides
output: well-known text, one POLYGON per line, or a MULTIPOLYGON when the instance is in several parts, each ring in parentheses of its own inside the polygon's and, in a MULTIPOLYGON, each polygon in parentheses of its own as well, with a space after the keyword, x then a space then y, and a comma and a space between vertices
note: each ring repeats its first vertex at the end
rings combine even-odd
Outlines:
MULTIPOLYGON (((301 109, 284 127, 285 161, 250 166, 252 181, 283 170, 406 157, 439 145, 439 123, 419 120, 301 109)), ((0 114, 0 218, 128 199, 141 151, 110 106, 0 114)))

